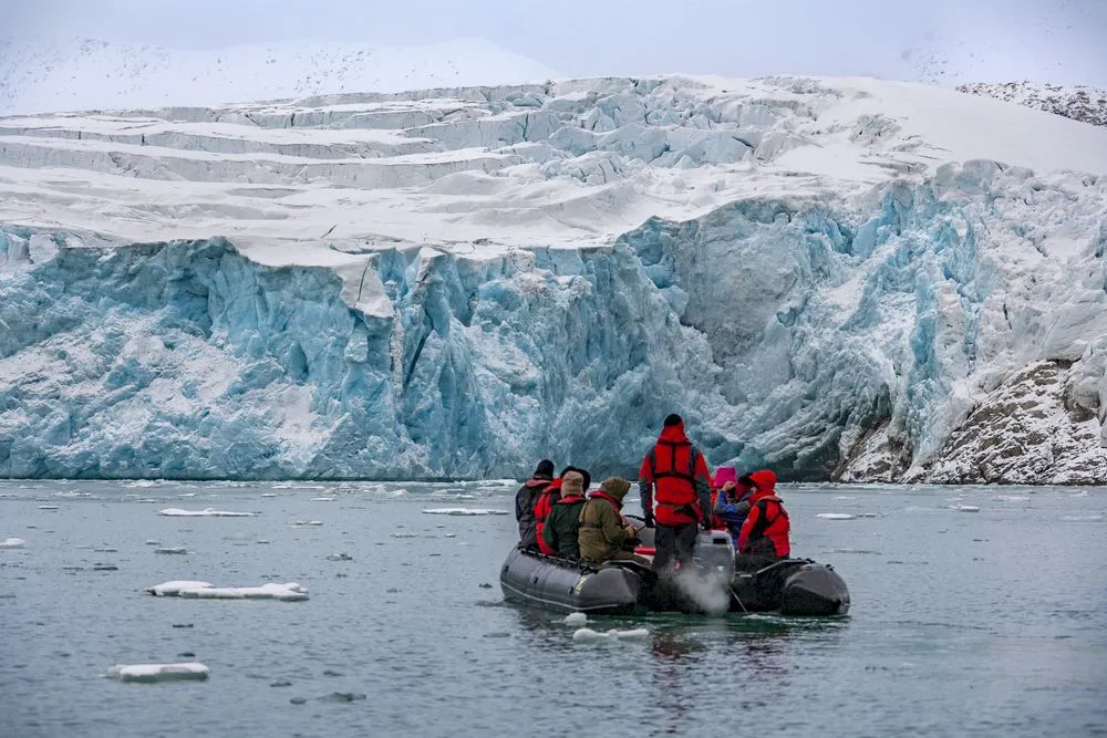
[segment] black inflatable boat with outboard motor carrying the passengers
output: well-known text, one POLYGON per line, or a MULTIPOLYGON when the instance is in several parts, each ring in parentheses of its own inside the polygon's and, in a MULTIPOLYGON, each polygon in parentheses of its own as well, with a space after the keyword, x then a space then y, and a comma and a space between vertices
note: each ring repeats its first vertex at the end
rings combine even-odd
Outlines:
MULTIPOLYGON (((734 549, 723 533, 705 533, 696 547, 696 576, 704 586, 725 593, 731 612, 770 612, 783 615, 845 615, 849 590, 829 564, 809 559, 784 559, 753 571, 735 571, 734 549)), ((644 555, 648 547, 639 549, 644 555)), ((741 562, 741 558, 739 558, 741 562)), ((705 612, 704 597, 659 581, 650 569, 630 561, 610 561, 593 568, 581 562, 513 549, 499 574, 504 599, 559 612, 628 615, 644 612, 705 612)), ((718 602, 720 597, 710 597, 718 602)), ((725 600, 724 600, 725 601, 725 600)))

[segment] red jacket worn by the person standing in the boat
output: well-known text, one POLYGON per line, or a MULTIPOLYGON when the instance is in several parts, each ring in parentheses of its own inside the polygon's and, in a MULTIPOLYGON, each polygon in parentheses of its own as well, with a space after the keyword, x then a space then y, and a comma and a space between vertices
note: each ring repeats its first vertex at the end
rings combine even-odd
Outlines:
POLYGON ((656 487, 656 521, 663 526, 701 522, 711 514, 711 477, 707 464, 689 437, 684 424, 661 430, 658 443, 642 459, 638 488, 642 511, 653 516, 656 487))

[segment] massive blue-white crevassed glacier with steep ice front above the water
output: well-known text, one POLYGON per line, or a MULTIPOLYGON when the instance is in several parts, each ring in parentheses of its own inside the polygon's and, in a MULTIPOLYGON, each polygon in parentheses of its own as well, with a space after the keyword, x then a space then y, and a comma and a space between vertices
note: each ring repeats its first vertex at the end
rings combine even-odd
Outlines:
POLYGON ((1107 131, 875 80, 0 118, 0 476, 1107 480, 1107 131))

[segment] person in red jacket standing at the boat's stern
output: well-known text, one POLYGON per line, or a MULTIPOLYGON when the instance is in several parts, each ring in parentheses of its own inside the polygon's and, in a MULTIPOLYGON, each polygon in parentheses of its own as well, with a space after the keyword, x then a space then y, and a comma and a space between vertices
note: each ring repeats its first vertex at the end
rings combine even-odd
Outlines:
POLYGON ((664 572, 674 559, 691 565, 699 528, 711 529, 711 477, 703 454, 684 434, 680 415, 665 418, 658 443, 642 459, 638 489, 645 526, 656 526, 653 570, 664 572))

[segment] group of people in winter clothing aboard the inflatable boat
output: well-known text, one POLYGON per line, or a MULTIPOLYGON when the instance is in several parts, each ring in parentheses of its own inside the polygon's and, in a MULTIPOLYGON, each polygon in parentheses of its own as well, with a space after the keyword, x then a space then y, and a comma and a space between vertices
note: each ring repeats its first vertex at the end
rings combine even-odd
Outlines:
POLYGON ((648 564, 634 545, 642 528, 652 528, 652 568, 658 573, 691 564, 701 529, 730 532, 739 569, 757 569, 790 554, 790 524, 776 493, 776 475, 761 469, 739 477, 733 467, 721 467, 712 476, 679 415, 665 418, 656 443, 642 458, 641 527, 622 514, 628 480, 610 477, 589 492, 587 470, 569 466, 555 477, 554 469, 554 462, 544 459, 516 493, 524 549, 594 565, 617 560, 648 564))

